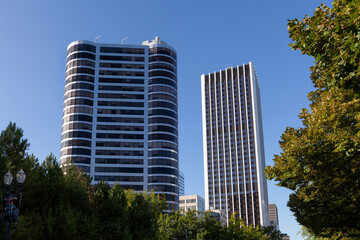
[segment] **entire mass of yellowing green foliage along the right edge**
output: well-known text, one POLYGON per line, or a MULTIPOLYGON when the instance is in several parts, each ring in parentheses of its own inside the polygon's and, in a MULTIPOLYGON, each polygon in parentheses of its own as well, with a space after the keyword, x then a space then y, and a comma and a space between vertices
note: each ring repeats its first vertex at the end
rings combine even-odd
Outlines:
POLYGON ((289 21, 293 49, 315 58, 303 127, 287 127, 269 179, 294 191, 288 206, 310 234, 360 237, 360 1, 321 5, 289 21))

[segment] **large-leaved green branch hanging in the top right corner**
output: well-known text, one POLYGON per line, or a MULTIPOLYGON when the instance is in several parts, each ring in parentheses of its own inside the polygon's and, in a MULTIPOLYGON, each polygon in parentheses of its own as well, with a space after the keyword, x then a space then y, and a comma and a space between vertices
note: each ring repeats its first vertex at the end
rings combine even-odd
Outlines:
POLYGON ((311 67, 317 87, 342 87, 360 93, 360 2, 335 0, 313 16, 289 21, 290 46, 315 58, 311 67))

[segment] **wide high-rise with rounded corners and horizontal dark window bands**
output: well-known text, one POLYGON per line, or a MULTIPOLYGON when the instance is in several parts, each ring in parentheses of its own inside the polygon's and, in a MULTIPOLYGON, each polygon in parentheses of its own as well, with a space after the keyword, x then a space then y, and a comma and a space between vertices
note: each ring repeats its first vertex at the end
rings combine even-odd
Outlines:
POLYGON ((177 112, 176 52, 158 37, 68 46, 61 164, 94 183, 165 194, 178 209, 177 112))

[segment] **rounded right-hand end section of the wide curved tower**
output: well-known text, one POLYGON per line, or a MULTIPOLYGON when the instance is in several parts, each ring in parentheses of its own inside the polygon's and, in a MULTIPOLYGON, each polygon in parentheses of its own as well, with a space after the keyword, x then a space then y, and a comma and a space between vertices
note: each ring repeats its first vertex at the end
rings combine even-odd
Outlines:
POLYGON ((176 52, 158 37, 149 46, 148 190, 178 209, 179 154, 176 52))

